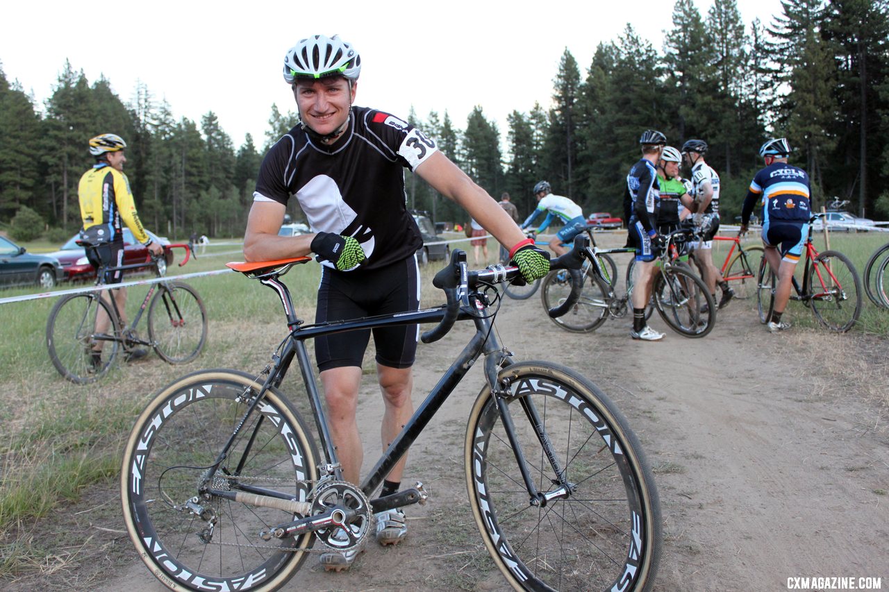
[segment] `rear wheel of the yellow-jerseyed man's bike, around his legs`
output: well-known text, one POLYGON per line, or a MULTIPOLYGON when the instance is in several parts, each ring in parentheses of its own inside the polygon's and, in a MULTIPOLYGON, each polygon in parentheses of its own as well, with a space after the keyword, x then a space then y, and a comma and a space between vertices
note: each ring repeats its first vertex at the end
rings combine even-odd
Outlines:
POLYGON ((63 297, 46 321, 46 348, 52 365, 76 384, 99 380, 117 356, 117 317, 99 293, 63 297))

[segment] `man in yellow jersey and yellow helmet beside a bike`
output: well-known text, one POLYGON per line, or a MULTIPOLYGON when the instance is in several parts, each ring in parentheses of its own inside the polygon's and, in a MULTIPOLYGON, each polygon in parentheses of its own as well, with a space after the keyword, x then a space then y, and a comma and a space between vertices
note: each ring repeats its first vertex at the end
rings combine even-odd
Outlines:
MULTIPOLYGON (((84 222, 81 236, 89 238, 90 242, 97 244, 93 251, 87 249, 86 256, 94 268, 100 265, 119 267, 124 264, 124 227, 132 231, 132 236, 137 241, 148 247, 153 255, 161 255, 164 247, 152 241, 136 213, 136 204, 132 198, 130 181, 124 174, 124 148, 126 142, 114 134, 105 133, 90 140, 90 154, 95 156, 96 164, 92 166, 84 176, 80 178, 77 187, 77 196, 80 200, 80 216, 84 222)), ((106 284, 119 284, 124 278, 123 271, 117 269, 109 271, 105 276, 106 284)), ((102 298, 107 298, 106 292, 102 298)), ((126 288, 116 288, 114 298, 117 309, 124 319, 124 305, 126 304, 126 288)), ((96 332, 108 330, 108 316, 100 313, 96 320, 96 332)), ((103 342, 92 344, 95 352, 93 358, 99 363, 99 352, 103 342)), ((141 348, 131 349, 127 352, 126 360, 131 361, 146 356, 148 352, 141 348)))

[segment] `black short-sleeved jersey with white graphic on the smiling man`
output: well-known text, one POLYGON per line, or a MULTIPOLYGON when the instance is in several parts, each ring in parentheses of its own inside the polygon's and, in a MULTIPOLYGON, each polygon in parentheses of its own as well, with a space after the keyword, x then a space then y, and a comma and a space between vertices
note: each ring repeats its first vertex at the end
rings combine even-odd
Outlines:
POLYGON ((381 268, 423 244, 407 211, 404 168, 415 171, 436 149, 396 116, 352 108, 348 130, 330 146, 300 125, 278 140, 262 161, 253 199, 287 204, 296 196, 312 232, 354 236, 367 256, 359 269, 381 268))

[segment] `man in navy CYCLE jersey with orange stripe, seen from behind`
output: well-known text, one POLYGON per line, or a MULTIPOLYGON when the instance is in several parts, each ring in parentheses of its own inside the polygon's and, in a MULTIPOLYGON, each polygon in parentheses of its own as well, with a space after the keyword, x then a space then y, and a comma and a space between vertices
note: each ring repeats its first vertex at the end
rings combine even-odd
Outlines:
POLYGON ((750 183, 741 211, 741 232, 747 232, 753 209, 757 204, 762 208, 765 259, 773 271, 778 270, 772 318, 766 324, 770 332, 790 328, 789 323, 781 320, 781 315, 790 300, 793 272, 803 254, 812 212, 809 175, 803 169, 788 164, 790 151, 786 138, 768 140, 759 148, 759 156, 765 160, 765 169, 757 172, 750 183))

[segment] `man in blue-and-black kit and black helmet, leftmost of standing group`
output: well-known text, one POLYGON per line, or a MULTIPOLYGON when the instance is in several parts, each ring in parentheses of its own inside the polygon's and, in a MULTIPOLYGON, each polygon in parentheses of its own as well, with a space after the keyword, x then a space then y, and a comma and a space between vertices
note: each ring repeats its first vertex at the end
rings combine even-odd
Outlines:
POLYGON ((664 334, 645 323, 645 307, 652 297, 654 265, 663 248, 657 230, 657 211, 661 200, 661 185, 655 166, 667 146, 667 136, 657 130, 645 130, 639 138, 642 158, 627 175, 630 199, 630 218, 627 225, 628 244, 636 247, 637 264, 633 267, 633 331, 634 340, 662 340, 664 334))

